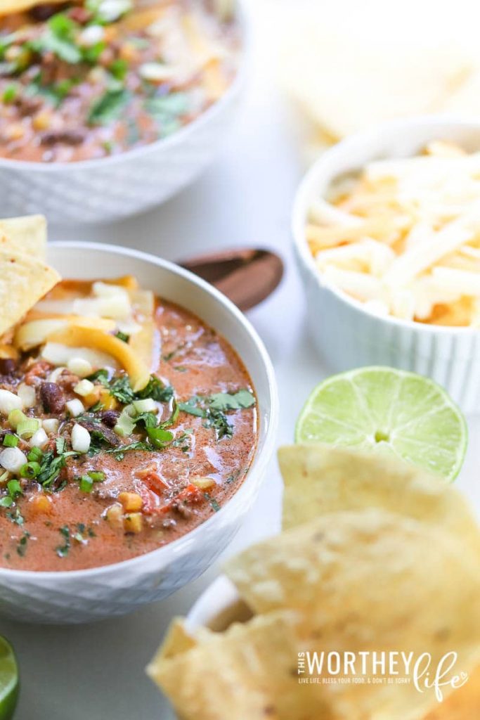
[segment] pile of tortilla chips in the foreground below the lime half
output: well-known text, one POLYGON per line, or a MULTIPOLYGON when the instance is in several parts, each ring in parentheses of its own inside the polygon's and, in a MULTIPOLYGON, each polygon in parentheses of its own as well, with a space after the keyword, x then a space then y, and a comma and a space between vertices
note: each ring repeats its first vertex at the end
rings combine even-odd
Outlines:
POLYGON ((148 668, 178 716, 480 716, 480 531, 462 496, 436 477, 374 454, 293 446, 279 458, 284 531, 226 567, 253 617, 221 632, 190 631, 177 620, 148 668), (297 659, 307 651, 404 652, 415 660, 428 653, 430 680, 443 657, 456 652, 455 667, 441 682, 458 675, 456 685, 463 686, 442 685, 439 703, 433 688, 415 688, 411 670, 409 683, 394 677, 331 682, 326 668, 302 683, 297 659))

